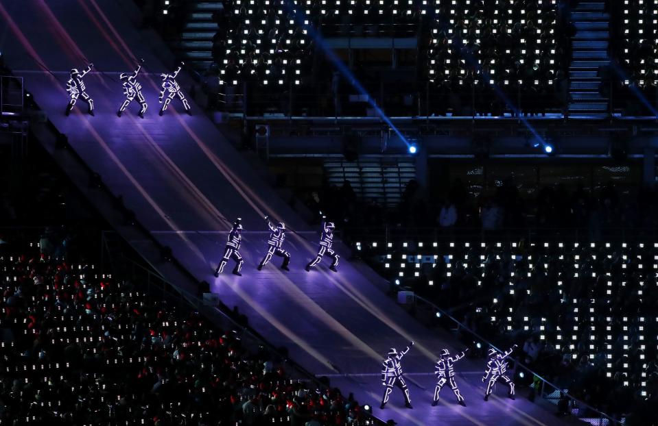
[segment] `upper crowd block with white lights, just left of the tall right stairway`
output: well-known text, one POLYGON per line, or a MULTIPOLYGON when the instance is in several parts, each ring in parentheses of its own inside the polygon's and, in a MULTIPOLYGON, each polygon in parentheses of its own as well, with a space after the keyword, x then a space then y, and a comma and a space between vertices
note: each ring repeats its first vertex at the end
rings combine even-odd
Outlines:
POLYGON ((495 116, 561 112, 572 32, 563 3, 438 1, 429 18, 429 42, 419 46, 432 83, 429 110, 495 116))

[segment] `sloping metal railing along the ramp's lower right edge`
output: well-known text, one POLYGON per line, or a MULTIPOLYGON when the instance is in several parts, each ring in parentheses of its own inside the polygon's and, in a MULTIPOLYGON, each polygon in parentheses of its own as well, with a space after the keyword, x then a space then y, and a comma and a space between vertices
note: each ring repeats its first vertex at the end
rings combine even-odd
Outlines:
MULTIPOLYGON (((456 330, 458 332, 462 334, 464 333, 469 334, 469 336, 471 336, 471 341, 479 340, 480 342, 489 345, 489 347, 493 347, 497 351, 500 352, 505 351, 505 349, 500 349, 495 344, 491 343, 489 340, 487 340, 486 338, 482 337, 480 334, 473 331, 470 327, 468 327, 458 319, 454 318, 454 316, 451 316, 451 314, 439 308, 431 301, 428 301, 427 299, 414 294, 414 308, 416 308, 417 310, 419 307, 423 308, 423 306, 425 308, 429 308, 430 310, 432 310, 432 316, 434 316, 436 312, 440 312, 441 317, 448 318, 449 321, 451 321, 451 323, 456 325, 456 330)), ((583 418, 583 419, 587 418, 588 423, 594 426, 609 426, 609 425, 624 424, 623 421, 613 418, 612 416, 609 416, 608 414, 605 414, 603 412, 600 412, 599 410, 592 407, 591 405, 572 396, 571 394, 569 394, 568 390, 563 389, 560 386, 557 386, 556 384, 553 384, 551 381, 548 381, 548 379, 545 379, 538 373, 535 373, 534 371, 532 371, 532 369, 528 368, 528 366, 524 365, 519 360, 511 356, 508 358, 510 358, 510 360, 514 362, 515 369, 521 368, 522 370, 524 370, 529 375, 529 377, 533 377, 534 383, 537 383, 537 381, 539 381, 539 386, 536 386, 535 390, 539 391, 538 393, 541 398, 547 399, 548 401, 553 400, 552 402, 556 403, 556 401, 554 400, 559 399, 561 396, 565 397, 569 401, 568 404, 569 412, 573 416, 576 416, 577 418, 583 418)))

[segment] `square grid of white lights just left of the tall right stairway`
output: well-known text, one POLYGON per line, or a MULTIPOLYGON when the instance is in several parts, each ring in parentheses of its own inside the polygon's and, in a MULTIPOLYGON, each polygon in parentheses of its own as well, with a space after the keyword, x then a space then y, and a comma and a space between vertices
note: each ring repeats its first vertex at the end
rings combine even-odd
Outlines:
MULTIPOLYGON (((482 3, 475 9, 471 0, 428 0, 433 3, 428 51, 428 78, 453 84, 552 84, 558 71, 559 46, 555 0, 539 0, 525 8, 513 0, 482 3), (505 34, 501 34, 505 33, 505 34), (487 41, 489 40, 489 41, 487 41), (491 42, 493 40, 493 43, 491 42), (520 58, 518 64, 506 58, 520 58), (519 78, 519 66, 530 65, 535 73, 519 78)), ((427 12, 426 12, 427 13, 427 12)))

